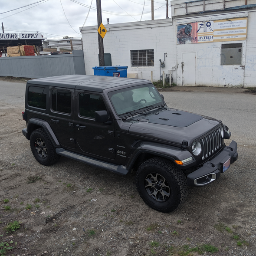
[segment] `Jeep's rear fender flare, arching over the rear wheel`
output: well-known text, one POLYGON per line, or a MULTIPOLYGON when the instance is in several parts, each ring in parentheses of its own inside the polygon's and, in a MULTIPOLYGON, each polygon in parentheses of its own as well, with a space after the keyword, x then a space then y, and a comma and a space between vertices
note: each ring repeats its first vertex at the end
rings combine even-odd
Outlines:
POLYGON ((24 133, 26 134, 26 135, 25 134, 24 135, 25 135, 25 137, 27 139, 30 139, 30 135, 32 133, 31 127, 33 125, 42 127, 46 131, 46 133, 49 136, 50 140, 52 141, 53 146, 55 148, 59 148, 60 147, 59 141, 58 141, 56 135, 54 134, 53 129, 49 125, 49 123, 47 121, 39 119, 39 118, 30 118, 30 120, 28 121, 28 124, 27 124, 27 128, 23 129, 23 134, 24 133))

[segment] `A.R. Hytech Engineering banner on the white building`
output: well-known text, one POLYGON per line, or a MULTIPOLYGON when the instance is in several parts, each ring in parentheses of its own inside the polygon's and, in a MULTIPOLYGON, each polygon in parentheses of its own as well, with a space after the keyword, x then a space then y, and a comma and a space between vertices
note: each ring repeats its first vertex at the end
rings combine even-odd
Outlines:
POLYGON ((177 26, 177 44, 246 40, 247 17, 177 26))

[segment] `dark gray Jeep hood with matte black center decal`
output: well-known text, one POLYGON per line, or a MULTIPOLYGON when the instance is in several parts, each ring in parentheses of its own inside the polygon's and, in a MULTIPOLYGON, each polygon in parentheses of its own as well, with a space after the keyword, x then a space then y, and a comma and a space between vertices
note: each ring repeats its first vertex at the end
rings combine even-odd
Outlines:
POLYGON ((136 118, 137 121, 129 128, 130 134, 172 144, 182 144, 185 140, 190 145, 194 139, 220 124, 220 121, 210 117, 170 108, 136 118))

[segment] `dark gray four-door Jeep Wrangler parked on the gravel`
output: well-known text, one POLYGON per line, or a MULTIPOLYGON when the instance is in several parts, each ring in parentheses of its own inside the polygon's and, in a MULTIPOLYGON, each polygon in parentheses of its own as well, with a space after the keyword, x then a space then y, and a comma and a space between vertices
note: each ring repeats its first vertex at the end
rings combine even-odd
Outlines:
POLYGON ((141 79, 63 75, 29 80, 26 128, 36 160, 60 156, 126 175, 136 171, 141 198, 170 212, 188 186, 212 183, 237 159, 226 125, 167 107, 154 85, 141 79))

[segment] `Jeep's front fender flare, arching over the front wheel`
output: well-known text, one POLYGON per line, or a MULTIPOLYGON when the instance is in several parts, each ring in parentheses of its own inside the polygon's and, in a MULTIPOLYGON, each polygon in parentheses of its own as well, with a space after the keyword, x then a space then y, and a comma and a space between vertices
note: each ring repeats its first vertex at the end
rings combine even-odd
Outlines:
MULTIPOLYGON (((138 159, 138 157, 142 153, 154 154, 155 156, 167 158, 173 162, 174 160, 181 161, 181 160, 192 157, 192 154, 190 154, 190 152, 187 150, 183 150, 181 148, 176 148, 176 147, 165 145, 165 144, 141 141, 136 146, 137 147, 135 151, 132 153, 131 158, 126 165, 126 168, 128 170, 132 169, 135 161, 138 159)), ((190 162, 189 164, 184 166, 178 165, 175 162, 174 164, 176 164, 177 167, 180 169, 187 169, 188 167, 194 165, 196 161, 194 158, 193 160, 194 160, 193 162, 190 162)))

